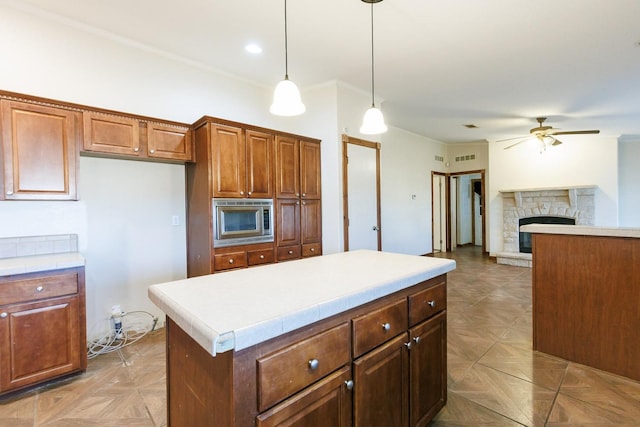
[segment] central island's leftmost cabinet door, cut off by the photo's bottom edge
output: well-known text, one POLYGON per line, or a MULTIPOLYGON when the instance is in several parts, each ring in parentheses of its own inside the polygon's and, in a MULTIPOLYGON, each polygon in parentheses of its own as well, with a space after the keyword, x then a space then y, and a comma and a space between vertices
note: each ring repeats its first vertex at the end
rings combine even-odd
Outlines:
POLYGON ((351 426, 351 370, 342 368, 292 398, 258 415, 257 427, 351 426))

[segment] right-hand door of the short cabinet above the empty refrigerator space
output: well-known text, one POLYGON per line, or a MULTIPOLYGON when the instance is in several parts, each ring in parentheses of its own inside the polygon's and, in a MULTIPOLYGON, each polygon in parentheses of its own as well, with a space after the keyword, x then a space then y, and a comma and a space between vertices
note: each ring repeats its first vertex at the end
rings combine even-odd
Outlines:
POLYGON ((155 159, 193 160, 189 128, 147 123, 147 155, 155 159))

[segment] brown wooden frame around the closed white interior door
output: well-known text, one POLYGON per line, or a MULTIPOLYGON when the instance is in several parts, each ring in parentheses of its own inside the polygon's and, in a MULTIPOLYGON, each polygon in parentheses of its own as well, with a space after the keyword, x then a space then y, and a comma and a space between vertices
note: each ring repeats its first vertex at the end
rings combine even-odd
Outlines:
POLYGON ((378 235, 378 250, 382 250, 382 230, 380 224, 380 147, 379 142, 366 141, 342 134, 342 227, 344 235, 344 251, 349 250, 349 158, 347 155, 347 144, 359 145, 361 147, 376 150, 376 234, 378 235))

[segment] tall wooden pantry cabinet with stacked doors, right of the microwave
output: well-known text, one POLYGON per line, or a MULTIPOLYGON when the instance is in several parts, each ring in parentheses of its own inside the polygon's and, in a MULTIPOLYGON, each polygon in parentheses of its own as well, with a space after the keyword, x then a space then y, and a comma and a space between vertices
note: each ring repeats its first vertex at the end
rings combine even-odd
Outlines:
POLYGON ((322 255, 320 144, 276 136, 278 261, 322 255))

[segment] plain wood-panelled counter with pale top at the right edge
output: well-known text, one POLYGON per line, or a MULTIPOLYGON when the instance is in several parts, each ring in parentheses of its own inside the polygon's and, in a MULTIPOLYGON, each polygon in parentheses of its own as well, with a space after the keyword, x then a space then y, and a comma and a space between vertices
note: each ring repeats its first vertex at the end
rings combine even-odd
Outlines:
POLYGON ((640 229, 532 224, 533 349, 640 381, 640 229))

